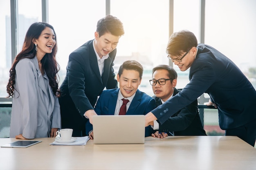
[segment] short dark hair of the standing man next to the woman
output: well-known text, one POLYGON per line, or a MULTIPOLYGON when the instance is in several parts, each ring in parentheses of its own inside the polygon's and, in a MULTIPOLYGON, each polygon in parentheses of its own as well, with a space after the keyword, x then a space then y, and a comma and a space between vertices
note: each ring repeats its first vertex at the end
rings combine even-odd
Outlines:
POLYGON ((112 15, 101 18, 97 23, 96 31, 99 33, 99 36, 105 33, 110 33, 115 36, 124 35, 123 23, 112 15))

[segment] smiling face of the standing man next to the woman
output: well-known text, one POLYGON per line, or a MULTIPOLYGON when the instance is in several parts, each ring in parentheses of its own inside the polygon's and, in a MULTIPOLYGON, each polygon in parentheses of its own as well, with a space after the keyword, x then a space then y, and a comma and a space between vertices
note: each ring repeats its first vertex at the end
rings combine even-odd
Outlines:
POLYGON ((100 58, 108 55, 111 51, 117 48, 120 36, 115 36, 110 33, 105 33, 99 37, 99 33, 94 33, 94 46, 100 58))

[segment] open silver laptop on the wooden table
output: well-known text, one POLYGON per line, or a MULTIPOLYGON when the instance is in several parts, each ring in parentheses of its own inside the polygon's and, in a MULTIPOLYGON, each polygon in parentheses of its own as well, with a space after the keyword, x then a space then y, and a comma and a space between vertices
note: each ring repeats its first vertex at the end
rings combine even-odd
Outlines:
POLYGON ((93 141, 94 144, 144 144, 145 115, 94 116, 93 141))

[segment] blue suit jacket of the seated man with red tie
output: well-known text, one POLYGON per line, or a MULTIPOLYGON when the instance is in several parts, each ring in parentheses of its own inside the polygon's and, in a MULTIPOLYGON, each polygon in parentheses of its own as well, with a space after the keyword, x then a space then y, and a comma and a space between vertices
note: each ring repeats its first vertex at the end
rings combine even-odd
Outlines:
MULTIPOLYGON (((98 115, 114 115, 117 104, 119 88, 105 90, 101 93, 97 104, 94 108, 98 115)), ((155 108, 155 99, 137 89, 135 97, 132 99, 130 107, 126 115, 146 115, 150 110, 155 108)), ((132 124, 131 124, 132 126, 132 124)), ((129 127, 128 127, 129 128, 129 127)), ((92 124, 88 121, 86 123, 86 134, 92 130, 92 124)), ((153 129, 151 126, 146 127, 145 137, 151 136, 153 129)))

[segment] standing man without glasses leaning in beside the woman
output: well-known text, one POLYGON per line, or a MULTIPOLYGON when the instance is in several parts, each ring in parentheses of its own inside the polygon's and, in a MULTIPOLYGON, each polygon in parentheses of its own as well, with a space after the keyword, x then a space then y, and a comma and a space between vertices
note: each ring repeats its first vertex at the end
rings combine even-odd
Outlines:
POLYGON ((117 88, 113 69, 116 47, 124 35, 122 22, 107 15, 97 23, 94 40, 73 51, 68 60, 67 74, 61 84, 61 127, 72 128, 73 136, 85 136, 85 123, 97 115, 94 105, 106 87, 117 88))

